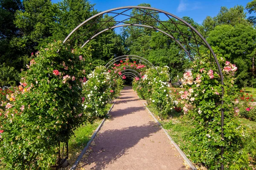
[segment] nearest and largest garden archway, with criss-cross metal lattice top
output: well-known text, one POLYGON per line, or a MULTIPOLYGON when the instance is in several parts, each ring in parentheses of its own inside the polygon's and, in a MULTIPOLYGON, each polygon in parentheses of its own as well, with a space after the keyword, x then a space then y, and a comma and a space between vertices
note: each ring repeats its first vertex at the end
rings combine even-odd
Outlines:
MULTIPOLYGON (((70 34, 65 38, 63 43, 68 43, 72 47, 81 46, 84 47, 90 40, 93 40, 99 34, 110 29, 125 27, 125 26, 137 26, 144 28, 151 28, 155 31, 161 32, 167 35, 170 39, 175 41, 182 50, 185 51, 186 57, 193 61, 195 56, 201 56, 202 52, 207 53, 210 58, 216 62, 218 67, 218 74, 221 77, 222 85, 222 100, 221 105, 224 104, 224 78, 221 71, 218 59, 210 47, 209 43, 204 39, 204 37, 189 23, 185 20, 171 14, 169 12, 145 7, 145 6, 125 6, 119 8, 113 8, 106 11, 102 11, 89 19, 85 20, 79 26, 77 26, 70 34), (127 14, 132 10, 136 10, 138 14, 136 16, 127 14), (157 18, 154 14, 161 15, 165 17, 166 20, 157 18), (107 19, 104 20, 104 16, 107 19), (110 17, 109 17, 110 16, 110 17), (122 16, 122 17, 121 17, 122 16), (140 19, 141 16, 147 16, 148 20, 140 19), (126 18, 125 18, 126 17, 126 18), (135 19, 136 22, 131 22, 130 19, 135 19), (169 23, 174 26, 174 29, 167 28, 163 23, 169 23), (186 28, 181 29, 181 27, 186 28)), ((221 109, 221 137, 224 139, 223 135, 224 126, 224 108, 221 109)), ((224 147, 221 148, 221 157, 224 153, 224 147)), ((224 169, 221 166, 221 169, 224 169)))

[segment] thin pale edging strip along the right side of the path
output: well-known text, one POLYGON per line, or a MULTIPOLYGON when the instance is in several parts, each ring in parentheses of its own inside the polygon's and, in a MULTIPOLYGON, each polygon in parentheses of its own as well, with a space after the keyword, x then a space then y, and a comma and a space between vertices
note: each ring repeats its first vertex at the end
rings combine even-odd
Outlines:
POLYGON ((148 107, 145 105, 145 103, 143 102, 143 105, 145 106, 145 108, 148 110, 148 113, 150 113, 150 115, 154 118, 155 122, 157 122, 157 124, 161 127, 161 129, 164 131, 164 133, 166 134, 166 136, 170 139, 170 141, 172 142, 172 144, 176 147, 176 149, 179 151, 180 155, 183 157, 183 159, 186 161, 186 163, 189 165, 189 167, 192 170, 197 170, 195 168, 195 166, 192 164, 192 162, 186 157, 186 155, 183 153, 183 151, 180 149, 180 147, 174 142, 174 140, 172 139, 172 137, 169 135, 169 133, 163 128, 163 126, 160 124, 160 122, 158 122, 157 118, 154 116, 154 114, 148 109, 148 107))

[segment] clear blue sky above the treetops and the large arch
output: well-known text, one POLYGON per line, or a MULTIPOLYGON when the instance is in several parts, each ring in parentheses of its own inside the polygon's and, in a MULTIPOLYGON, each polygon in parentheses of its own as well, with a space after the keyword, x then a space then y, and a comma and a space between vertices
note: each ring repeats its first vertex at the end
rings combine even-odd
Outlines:
MULTIPOLYGON (((59 0, 52 0, 56 3, 59 0)), ((246 6, 252 0, 89 0, 95 3, 95 9, 105 11, 121 6, 137 6, 140 3, 149 3, 151 7, 162 9, 177 17, 188 16, 201 24, 206 16, 214 17, 221 6, 231 8, 236 5, 246 6)))

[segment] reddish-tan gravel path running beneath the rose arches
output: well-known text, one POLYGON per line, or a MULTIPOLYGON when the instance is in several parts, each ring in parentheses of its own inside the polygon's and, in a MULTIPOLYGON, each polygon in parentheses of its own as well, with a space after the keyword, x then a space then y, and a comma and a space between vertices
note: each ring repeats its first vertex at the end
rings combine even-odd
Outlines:
POLYGON ((133 89, 125 87, 84 155, 81 170, 186 170, 188 167, 133 89))

